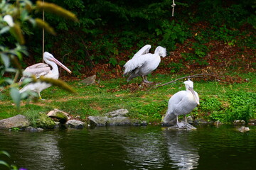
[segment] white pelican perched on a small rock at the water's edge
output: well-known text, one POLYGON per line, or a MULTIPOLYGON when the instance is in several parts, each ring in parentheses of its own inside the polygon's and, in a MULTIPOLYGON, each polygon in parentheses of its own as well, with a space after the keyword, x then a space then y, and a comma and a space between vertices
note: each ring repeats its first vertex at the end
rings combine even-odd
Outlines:
POLYGON ((171 96, 163 123, 169 123, 176 118, 179 126, 178 115, 184 115, 187 122, 186 115, 199 105, 199 96, 193 90, 193 82, 188 80, 184 81, 184 84, 186 91, 178 91, 174 96, 171 96))

